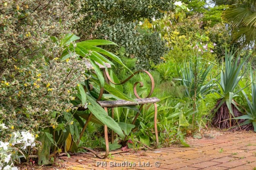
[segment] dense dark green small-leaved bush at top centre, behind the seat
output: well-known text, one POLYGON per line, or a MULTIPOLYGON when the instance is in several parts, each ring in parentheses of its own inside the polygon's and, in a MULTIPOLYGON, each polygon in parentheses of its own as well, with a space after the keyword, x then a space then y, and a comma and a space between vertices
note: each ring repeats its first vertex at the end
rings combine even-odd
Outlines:
MULTIPOLYGON (((125 56, 138 60, 136 69, 148 69, 150 62, 160 62, 167 49, 157 33, 141 30, 138 22, 160 18, 171 9, 173 4, 164 0, 87 0, 82 8, 86 16, 76 29, 82 39, 108 39, 117 43, 125 48, 125 56)), ((111 46, 107 50, 118 51, 111 46)))

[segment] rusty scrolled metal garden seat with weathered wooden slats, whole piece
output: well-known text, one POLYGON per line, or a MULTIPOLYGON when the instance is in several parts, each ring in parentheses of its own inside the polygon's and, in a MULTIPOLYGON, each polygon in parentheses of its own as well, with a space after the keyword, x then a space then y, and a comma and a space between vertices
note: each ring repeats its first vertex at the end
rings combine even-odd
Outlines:
MULTIPOLYGON (((151 90, 148 94, 148 96, 146 98, 140 98, 140 96, 137 94, 137 84, 140 84, 140 87, 143 87, 143 82, 136 82, 134 84, 134 95, 136 96, 136 99, 134 99, 134 101, 125 101, 125 100, 106 100, 106 101, 101 101, 102 95, 104 93, 104 88, 100 89, 100 94, 99 94, 99 98, 97 99, 98 104, 103 107, 105 109, 106 112, 108 112, 108 108, 111 108, 111 117, 114 118, 114 110, 113 108, 115 107, 124 107, 124 106, 140 106, 140 109, 138 110, 137 114, 135 115, 133 122, 131 124, 135 124, 140 112, 143 109, 143 106, 145 104, 153 104, 154 105, 154 134, 156 137, 156 141, 155 141, 155 146, 154 148, 156 149, 158 146, 158 133, 157 133, 157 102, 160 101, 158 98, 156 97, 150 97, 154 91, 154 79, 152 77, 152 75, 145 71, 145 70, 140 70, 137 72, 134 72, 131 76, 129 76, 127 79, 125 79, 124 81, 122 81, 121 83, 115 83, 112 79, 111 76, 108 74, 108 69, 111 68, 111 65, 106 63, 105 66, 102 66, 101 64, 97 63, 99 65, 99 68, 102 70, 104 78, 105 78, 105 82, 107 84, 114 84, 114 85, 122 85, 125 84, 125 82, 127 82, 128 80, 130 80, 134 75, 138 74, 138 73, 145 73, 146 75, 148 75, 148 77, 150 78, 151 81, 151 90)), ((91 69, 92 65, 90 63, 87 64, 87 69, 91 69)), ((84 124, 83 130, 80 134, 80 138, 82 136, 82 134, 84 133, 84 130, 86 129, 88 123, 90 122, 90 119, 92 118, 93 114, 90 113, 90 115, 87 118, 87 121, 84 124)), ((108 156, 109 153, 109 141, 108 141, 108 127, 105 125, 104 126, 104 132, 105 132, 105 144, 106 144, 106 152, 105 154, 102 156, 98 153, 96 153, 94 150, 91 150, 90 148, 86 148, 83 147, 86 150, 91 151, 92 153, 94 153, 97 157, 99 158, 106 158, 108 156)), ((127 139, 128 135, 125 136, 124 141, 127 139)), ((111 143, 113 144, 114 142, 114 132, 113 130, 111 130, 111 143)), ((145 146, 145 144, 143 144, 145 146)), ((148 147, 148 146, 146 146, 148 147)), ((150 147, 148 147, 149 149, 151 149, 150 147)))

